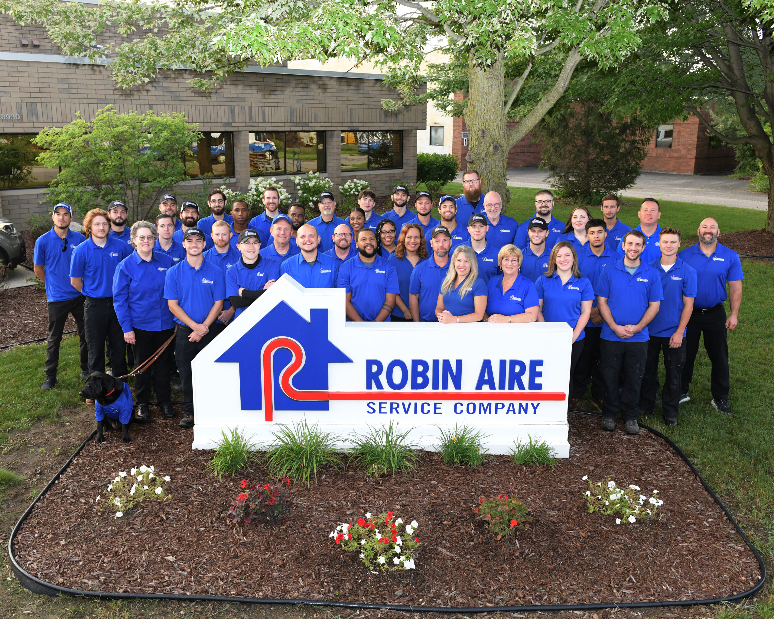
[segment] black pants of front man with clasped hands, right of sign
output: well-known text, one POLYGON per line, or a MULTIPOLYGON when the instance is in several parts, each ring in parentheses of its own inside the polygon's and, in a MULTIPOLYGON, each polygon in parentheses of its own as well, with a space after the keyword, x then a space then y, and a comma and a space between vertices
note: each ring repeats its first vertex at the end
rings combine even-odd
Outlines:
POLYGON ((599 368, 604 380, 602 415, 615 419, 618 413, 624 421, 639 416, 639 388, 648 357, 648 342, 618 342, 601 340, 599 368), (618 378, 623 378, 618 392, 618 378))

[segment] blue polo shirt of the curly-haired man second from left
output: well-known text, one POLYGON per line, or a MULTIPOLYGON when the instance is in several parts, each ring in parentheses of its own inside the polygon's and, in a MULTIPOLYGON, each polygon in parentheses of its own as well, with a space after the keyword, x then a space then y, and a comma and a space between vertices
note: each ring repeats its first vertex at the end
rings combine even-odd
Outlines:
POLYGON ((91 237, 87 238, 74 249, 70 258, 70 277, 83 278, 82 292, 92 299, 113 296, 115 269, 132 253, 132 248, 111 234, 105 240, 104 247, 100 247, 91 237))

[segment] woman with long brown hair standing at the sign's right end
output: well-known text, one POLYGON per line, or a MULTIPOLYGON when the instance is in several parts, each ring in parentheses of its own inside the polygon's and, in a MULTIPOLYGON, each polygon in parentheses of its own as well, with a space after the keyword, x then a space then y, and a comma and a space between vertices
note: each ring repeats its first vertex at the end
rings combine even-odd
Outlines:
POLYGON ((583 351, 586 323, 591 316, 594 289, 587 278, 580 276, 578 258, 569 241, 559 241, 553 246, 548 259, 546 275, 540 275, 535 283, 540 299, 540 311, 546 323, 567 323, 573 330, 573 347, 570 355, 570 384, 567 398, 572 394, 573 375, 580 351, 583 351))

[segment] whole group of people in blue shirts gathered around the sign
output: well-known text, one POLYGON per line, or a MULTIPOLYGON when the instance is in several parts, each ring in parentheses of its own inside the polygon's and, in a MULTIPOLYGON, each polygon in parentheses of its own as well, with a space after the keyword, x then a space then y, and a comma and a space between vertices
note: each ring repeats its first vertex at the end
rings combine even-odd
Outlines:
MULTIPOLYGON (((306 221, 293 203, 279 210, 279 191, 268 187, 265 210, 250 218, 248 204, 214 190, 211 214, 197 203, 163 196, 155 221, 125 225, 125 205, 84 218, 84 235, 70 231, 72 210, 53 209, 53 227, 35 246, 36 274, 46 284, 49 340, 46 381, 57 383, 59 344, 71 314, 80 336, 81 377, 104 371, 105 344, 114 375, 127 373, 127 349, 144 361, 166 340, 173 346, 135 378, 136 417, 150 418, 156 388, 159 409, 174 417, 170 376, 180 374, 181 427, 194 425, 191 361, 233 320, 288 273, 302 286, 346 291, 351 321, 440 323, 567 323, 572 328, 570 409, 591 385, 601 427, 639 433, 637 419, 658 399, 659 360, 666 380, 661 395, 666 423, 676 425, 687 402, 700 336, 712 363, 712 405, 730 414, 726 333, 738 322, 741 262, 717 242, 707 218, 699 242, 680 251, 681 234, 661 227, 658 200, 646 198, 633 230, 618 221, 620 200, 605 196, 601 217, 575 207, 567 224, 553 217, 548 190, 536 212, 519 225, 502 214, 502 198, 481 194, 475 170, 463 176, 461 197, 433 197, 398 185, 392 209, 376 214, 365 190, 348 220, 323 192, 320 216, 306 221), (727 292, 728 285, 728 292, 727 292), (724 301, 730 297, 731 314, 724 301), (174 337, 173 337, 174 336, 174 337), (128 346, 127 346, 128 345, 128 346)), ((130 362, 132 358, 130 357, 130 362)))

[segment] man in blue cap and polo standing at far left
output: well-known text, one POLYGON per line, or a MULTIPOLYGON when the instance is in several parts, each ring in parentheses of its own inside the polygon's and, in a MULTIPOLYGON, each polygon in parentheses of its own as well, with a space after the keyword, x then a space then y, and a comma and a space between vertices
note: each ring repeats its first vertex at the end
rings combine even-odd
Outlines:
POLYGON ((88 378, 89 354, 84 333, 84 296, 70 283, 70 258, 74 249, 85 241, 80 232, 70 230, 73 210, 60 202, 51 214, 53 227, 35 241, 35 275, 46 285, 46 308, 49 313, 49 335, 46 340, 46 380, 40 388, 48 391, 57 384, 59 346, 67 315, 72 314, 80 340, 80 378, 88 378))

